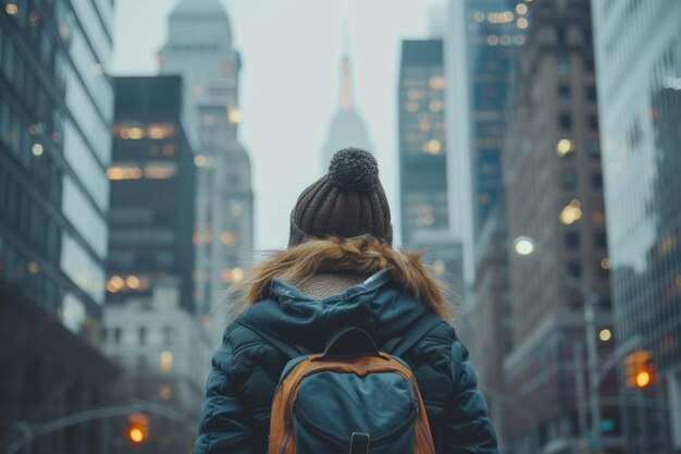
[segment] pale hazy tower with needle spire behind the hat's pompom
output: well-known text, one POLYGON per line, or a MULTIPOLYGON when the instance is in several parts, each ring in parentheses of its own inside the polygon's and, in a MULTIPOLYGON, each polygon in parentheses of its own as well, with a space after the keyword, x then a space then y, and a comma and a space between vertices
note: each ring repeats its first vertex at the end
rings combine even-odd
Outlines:
POLYGON ((326 173, 333 154, 342 148, 358 147, 372 151, 364 121, 355 109, 348 25, 349 19, 346 11, 343 21, 343 54, 340 58, 338 109, 329 126, 329 135, 322 154, 322 173, 326 173))

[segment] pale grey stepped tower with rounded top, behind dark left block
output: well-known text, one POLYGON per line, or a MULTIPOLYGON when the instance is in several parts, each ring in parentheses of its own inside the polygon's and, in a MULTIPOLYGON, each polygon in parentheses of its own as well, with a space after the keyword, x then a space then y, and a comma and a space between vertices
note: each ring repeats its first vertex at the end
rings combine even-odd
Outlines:
POLYGON ((250 160, 237 139, 242 63, 220 1, 179 1, 159 58, 162 73, 182 74, 198 122, 195 302, 219 342, 227 322, 223 291, 243 279, 253 247, 250 160))

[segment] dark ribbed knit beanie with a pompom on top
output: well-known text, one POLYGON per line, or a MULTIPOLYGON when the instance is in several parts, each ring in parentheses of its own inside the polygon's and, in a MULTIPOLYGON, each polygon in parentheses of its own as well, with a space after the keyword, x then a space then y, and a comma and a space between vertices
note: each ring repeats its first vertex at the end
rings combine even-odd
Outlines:
POLYGON ((393 243, 391 208, 375 158, 360 148, 337 151, 329 173, 308 186, 290 212, 288 247, 306 240, 370 234, 393 243))

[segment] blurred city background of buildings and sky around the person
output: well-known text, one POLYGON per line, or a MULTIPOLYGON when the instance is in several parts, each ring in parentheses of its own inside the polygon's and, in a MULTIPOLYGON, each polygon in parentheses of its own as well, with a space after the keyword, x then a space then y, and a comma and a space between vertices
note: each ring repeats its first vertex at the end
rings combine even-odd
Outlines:
POLYGON ((502 452, 681 453, 681 1, 0 0, 0 452, 189 452, 357 146, 502 452))

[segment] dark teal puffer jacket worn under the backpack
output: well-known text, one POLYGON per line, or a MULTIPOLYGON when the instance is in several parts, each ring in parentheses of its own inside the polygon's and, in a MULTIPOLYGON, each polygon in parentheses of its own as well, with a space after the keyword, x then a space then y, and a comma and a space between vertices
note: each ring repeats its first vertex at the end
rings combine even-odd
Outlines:
MULTIPOLYGON (((379 345, 405 338, 429 312, 380 272, 347 292, 313 300, 275 280, 269 298, 225 330, 213 356, 194 454, 264 454, 275 388, 288 361, 246 324, 292 345, 320 352, 330 333, 358 327, 379 345)), ((403 355, 417 378, 437 454, 498 454, 487 407, 468 351, 441 323, 403 355)))

